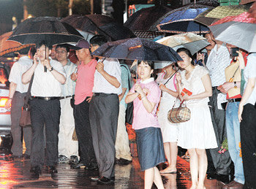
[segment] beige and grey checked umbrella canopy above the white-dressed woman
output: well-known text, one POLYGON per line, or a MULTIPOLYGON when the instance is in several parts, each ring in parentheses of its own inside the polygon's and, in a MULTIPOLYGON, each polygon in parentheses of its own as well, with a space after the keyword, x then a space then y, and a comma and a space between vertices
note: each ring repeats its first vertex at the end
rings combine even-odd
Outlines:
POLYGON ((192 33, 166 36, 162 39, 157 40, 157 42, 162 45, 173 47, 174 50, 185 47, 192 53, 192 55, 194 55, 204 47, 210 45, 210 43, 207 42, 206 38, 192 33))

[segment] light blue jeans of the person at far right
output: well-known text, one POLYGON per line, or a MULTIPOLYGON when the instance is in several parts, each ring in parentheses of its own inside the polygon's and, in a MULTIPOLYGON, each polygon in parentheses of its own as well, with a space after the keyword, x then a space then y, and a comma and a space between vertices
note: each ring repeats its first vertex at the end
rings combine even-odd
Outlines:
POLYGON ((227 142, 230 157, 235 166, 235 181, 244 185, 244 168, 242 158, 239 156, 240 123, 238 120, 238 107, 240 102, 229 102, 226 109, 227 142))

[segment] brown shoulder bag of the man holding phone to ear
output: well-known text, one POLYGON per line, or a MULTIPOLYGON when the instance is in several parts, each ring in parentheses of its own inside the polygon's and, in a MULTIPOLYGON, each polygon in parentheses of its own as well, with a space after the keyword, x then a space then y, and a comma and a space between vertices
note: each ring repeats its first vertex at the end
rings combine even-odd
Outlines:
POLYGON ((28 127, 31 126, 31 118, 30 118, 30 106, 29 106, 29 97, 31 92, 31 86, 32 82, 34 80, 34 74, 31 77, 31 81, 29 82, 29 89, 26 93, 25 99, 24 99, 24 105, 22 107, 22 112, 20 116, 20 126, 21 127, 28 127))

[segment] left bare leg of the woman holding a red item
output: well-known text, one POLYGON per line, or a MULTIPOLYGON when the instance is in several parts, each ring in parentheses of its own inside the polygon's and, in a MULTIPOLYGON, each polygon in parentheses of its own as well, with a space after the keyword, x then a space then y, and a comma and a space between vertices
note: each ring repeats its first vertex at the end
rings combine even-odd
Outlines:
POLYGON ((197 153, 195 152, 195 148, 188 149, 190 155, 190 172, 192 179, 192 189, 197 188, 198 181, 198 159, 197 153))

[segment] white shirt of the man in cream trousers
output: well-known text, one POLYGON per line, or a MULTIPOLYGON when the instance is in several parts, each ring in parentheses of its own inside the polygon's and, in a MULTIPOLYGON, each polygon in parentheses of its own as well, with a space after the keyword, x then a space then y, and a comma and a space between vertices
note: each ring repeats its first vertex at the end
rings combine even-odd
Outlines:
POLYGON ((75 81, 71 80, 70 75, 75 72, 76 68, 77 65, 68 59, 67 64, 64 66, 67 79, 65 84, 61 85, 61 96, 72 96, 75 94, 75 81))

